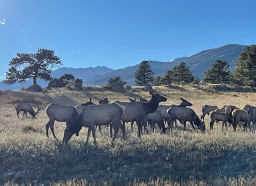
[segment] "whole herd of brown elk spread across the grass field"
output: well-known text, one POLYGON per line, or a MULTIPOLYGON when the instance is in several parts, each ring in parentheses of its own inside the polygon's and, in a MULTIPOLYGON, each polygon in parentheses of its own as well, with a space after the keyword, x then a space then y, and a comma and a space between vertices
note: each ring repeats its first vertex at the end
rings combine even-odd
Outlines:
MULTIPOLYGON (((217 106, 204 105, 201 107, 201 118, 195 114, 190 102, 184 98, 180 98, 182 101, 179 105, 160 105, 161 102, 166 102, 167 98, 160 94, 150 91, 151 99, 149 101, 142 97, 140 101, 128 98, 130 102, 108 102, 108 98, 102 98, 98 104, 92 102, 92 98, 84 104, 78 104, 76 106, 63 106, 60 104, 49 104, 45 109, 49 122, 46 124, 46 135, 49 138, 49 128, 55 136, 54 123, 65 122, 66 129, 64 130, 63 143, 67 143, 73 134, 79 136, 79 132, 82 126, 88 128, 86 143, 90 133, 96 145, 96 127, 110 126, 110 136, 112 137, 112 145, 117 138, 119 129, 122 131, 123 139, 126 138, 125 124, 131 123, 131 126, 136 122, 138 126, 138 137, 140 138, 143 132, 147 130, 149 125, 153 132, 155 124, 164 134, 166 130, 172 131, 174 124, 177 128, 177 120, 184 126, 186 130, 186 123, 189 122, 193 130, 205 131, 205 115, 209 115, 210 124, 209 129, 213 130, 213 124, 215 122, 222 122, 227 130, 227 124, 233 126, 233 130, 236 131, 237 125, 243 126, 243 128, 253 127, 256 124, 256 107, 245 105, 243 109, 239 109, 236 106, 223 106, 223 108, 217 108, 217 106), (196 126, 196 127, 195 127, 196 126), (114 136, 112 136, 112 129, 114 130, 114 136)), ((40 108, 37 106, 35 112, 33 108, 27 103, 18 103, 15 105, 15 110, 19 118, 19 112, 23 111, 23 117, 27 112, 31 114, 33 118, 39 114, 40 108)))

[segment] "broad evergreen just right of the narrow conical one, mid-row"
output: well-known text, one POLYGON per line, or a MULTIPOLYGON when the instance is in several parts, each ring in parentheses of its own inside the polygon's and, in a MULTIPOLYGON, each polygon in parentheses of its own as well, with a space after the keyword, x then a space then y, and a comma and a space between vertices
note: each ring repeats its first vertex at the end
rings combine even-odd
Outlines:
POLYGON ((193 81, 193 75, 189 66, 186 66, 185 62, 180 62, 180 64, 172 68, 172 81, 176 83, 190 83, 193 81))

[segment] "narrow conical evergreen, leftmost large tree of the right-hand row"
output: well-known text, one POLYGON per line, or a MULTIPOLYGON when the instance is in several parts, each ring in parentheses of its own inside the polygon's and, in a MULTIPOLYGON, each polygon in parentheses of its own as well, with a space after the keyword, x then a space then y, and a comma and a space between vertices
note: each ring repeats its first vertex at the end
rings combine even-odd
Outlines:
POLYGON ((134 82, 138 86, 145 86, 151 84, 154 81, 153 70, 151 69, 148 61, 143 60, 134 74, 134 82))

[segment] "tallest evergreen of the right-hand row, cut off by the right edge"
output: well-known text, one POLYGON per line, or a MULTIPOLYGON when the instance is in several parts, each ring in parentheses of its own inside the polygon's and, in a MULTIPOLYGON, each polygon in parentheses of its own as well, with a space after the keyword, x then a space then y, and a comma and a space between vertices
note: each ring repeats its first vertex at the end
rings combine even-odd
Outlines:
POLYGON ((233 82, 241 86, 256 86, 256 45, 246 46, 241 52, 233 71, 233 82))

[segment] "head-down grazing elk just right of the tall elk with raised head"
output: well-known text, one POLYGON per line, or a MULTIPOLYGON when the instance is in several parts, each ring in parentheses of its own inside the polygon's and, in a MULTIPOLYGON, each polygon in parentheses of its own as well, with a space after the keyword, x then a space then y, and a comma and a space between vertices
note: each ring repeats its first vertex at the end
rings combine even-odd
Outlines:
POLYGON ((172 106, 167 110, 169 115, 169 123, 172 124, 175 120, 179 120, 181 124, 184 124, 184 130, 186 130, 186 122, 190 122, 192 128, 195 130, 195 124, 201 131, 205 130, 204 122, 198 118, 195 112, 191 108, 184 108, 181 106, 172 106))

